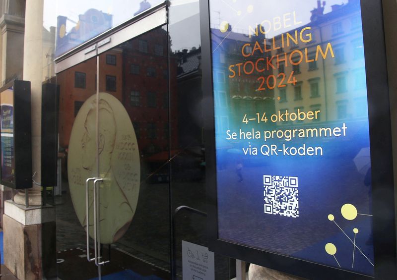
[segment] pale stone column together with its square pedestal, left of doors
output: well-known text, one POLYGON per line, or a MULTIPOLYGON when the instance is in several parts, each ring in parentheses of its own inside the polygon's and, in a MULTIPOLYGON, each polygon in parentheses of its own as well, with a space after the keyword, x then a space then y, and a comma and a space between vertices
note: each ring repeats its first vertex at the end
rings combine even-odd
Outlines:
MULTIPOLYGON (((23 79, 31 82, 32 170, 34 181, 4 203, 4 264, 18 279, 56 277, 55 209, 41 200, 41 95, 44 0, 26 0, 23 79)), ((27 120, 29 121, 29 120, 27 120)))

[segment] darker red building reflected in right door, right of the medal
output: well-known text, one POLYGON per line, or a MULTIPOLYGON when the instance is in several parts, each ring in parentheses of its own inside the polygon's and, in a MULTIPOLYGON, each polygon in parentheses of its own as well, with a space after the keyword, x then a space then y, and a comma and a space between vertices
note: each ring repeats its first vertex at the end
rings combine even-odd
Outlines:
MULTIPOLYGON (((168 69, 168 36, 158 28, 123 44, 123 104, 131 117, 138 146, 145 154, 169 148, 169 127, 176 129, 176 102, 171 103, 171 124, 168 119, 168 75, 176 77, 176 59, 168 69)), ((176 79, 170 80, 170 88, 176 79)), ((176 90, 171 90, 172 94, 176 90)), ((175 101, 176 98, 171 98, 175 101)), ((173 134, 174 135, 174 134, 173 134)), ((177 142, 177 135, 171 139, 177 142)))

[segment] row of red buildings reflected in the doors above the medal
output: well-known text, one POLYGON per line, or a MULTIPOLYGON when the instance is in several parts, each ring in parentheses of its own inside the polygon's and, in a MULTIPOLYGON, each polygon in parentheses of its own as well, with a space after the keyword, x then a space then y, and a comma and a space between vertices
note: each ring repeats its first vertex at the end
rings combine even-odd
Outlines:
MULTIPOLYGON (((99 56, 99 92, 119 99, 130 115, 143 154, 169 148, 168 75, 176 77, 176 59, 168 69, 168 36, 158 28, 99 56)), ((74 118, 96 92, 96 58, 59 73, 60 145, 67 148, 74 118)), ((170 81, 176 87, 176 78, 170 81)), ((176 94, 176 90, 171 91, 176 94)), ((172 99, 173 101, 176 98, 172 99)), ((177 104, 171 103, 172 129, 177 129, 177 104)), ((177 143, 177 135, 172 141, 177 143)))

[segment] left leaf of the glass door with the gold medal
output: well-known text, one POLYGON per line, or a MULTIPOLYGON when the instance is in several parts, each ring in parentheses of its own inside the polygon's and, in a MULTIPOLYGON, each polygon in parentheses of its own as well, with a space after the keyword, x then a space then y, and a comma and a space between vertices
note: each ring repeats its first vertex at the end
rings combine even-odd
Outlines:
POLYGON ((91 58, 57 74, 59 151, 63 158, 64 178, 62 196, 55 200, 58 277, 61 279, 73 277, 70 271, 76 269, 79 279, 98 275, 91 240, 95 229, 93 181, 99 174, 96 148, 98 64, 95 53, 90 52, 91 58), (75 258, 76 255, 79 257, 75 258))

